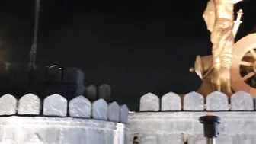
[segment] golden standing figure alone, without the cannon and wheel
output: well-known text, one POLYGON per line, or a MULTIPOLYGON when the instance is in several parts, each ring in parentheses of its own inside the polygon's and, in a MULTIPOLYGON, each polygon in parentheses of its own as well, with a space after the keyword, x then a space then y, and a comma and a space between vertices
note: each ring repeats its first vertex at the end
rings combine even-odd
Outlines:
POLYGON ((206 21, 213 43, 213 89, 232 94, 230 87, 230 67, 234 45, 234 4, 242 0, 210 0, 203 18, 206 21))

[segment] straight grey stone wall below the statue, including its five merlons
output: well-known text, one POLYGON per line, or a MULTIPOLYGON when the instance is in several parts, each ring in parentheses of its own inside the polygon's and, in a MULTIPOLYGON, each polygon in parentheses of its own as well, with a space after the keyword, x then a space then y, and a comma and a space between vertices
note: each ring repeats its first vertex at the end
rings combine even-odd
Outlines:
POLYGON ((162 98, 152 93, 143 95, 140 112, 129 115, 130 144, 134 136, 139 144, 183 144, 184 133, 189 144, 204 144, 203 124, 198 119, 208 111, 222 118, 216 143, 256 142, 256 112, 251 94, 239 91, 229 101, 226 94, 216 91, 206 98, 197 92, 183 98, 172 92, 162 98))

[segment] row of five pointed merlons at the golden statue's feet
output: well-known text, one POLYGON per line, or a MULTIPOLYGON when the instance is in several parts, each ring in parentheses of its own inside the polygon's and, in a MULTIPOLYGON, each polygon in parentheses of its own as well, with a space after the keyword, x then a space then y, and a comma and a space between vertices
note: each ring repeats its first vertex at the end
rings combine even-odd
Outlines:
POLYGON ((245 91, 238 91, 230 98, 222 92, 215 91, 206 98, 197 92, 190 92, 181 98, 178 94, 169 92, 161 98, 152 93, 140 98, 139 111, 250 111, 254 110, 254 98, 245 91), (181 107, 182 106, 182 107, 181 107))

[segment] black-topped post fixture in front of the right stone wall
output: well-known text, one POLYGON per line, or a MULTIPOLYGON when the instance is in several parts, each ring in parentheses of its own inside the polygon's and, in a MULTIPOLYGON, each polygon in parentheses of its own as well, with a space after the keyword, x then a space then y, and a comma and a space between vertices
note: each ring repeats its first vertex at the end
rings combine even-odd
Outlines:
POLYGON ((219 135, 218 125, 220 117, 213 115, 206 115, 199 118, 200 123, 203 123, 204 137, 206 137, 206 144, 215 144, 215 138, 219 135))

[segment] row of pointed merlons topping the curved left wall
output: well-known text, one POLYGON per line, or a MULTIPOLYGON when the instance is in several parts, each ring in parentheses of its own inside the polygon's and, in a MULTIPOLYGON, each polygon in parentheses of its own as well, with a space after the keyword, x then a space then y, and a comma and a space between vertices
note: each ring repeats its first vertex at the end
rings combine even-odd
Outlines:
POLYGON ((0 116, 42 116, 75 117, 82 119, 105 120, 114 123, 128 123, 129 110, 126 105, 117 102, 107 104, 104 99, 91 103, 84 96, 71 101, 59 94, 52 94, 43 100, 35 94, 26 94, 17 100, 11 94, 0 97, 0 116))

